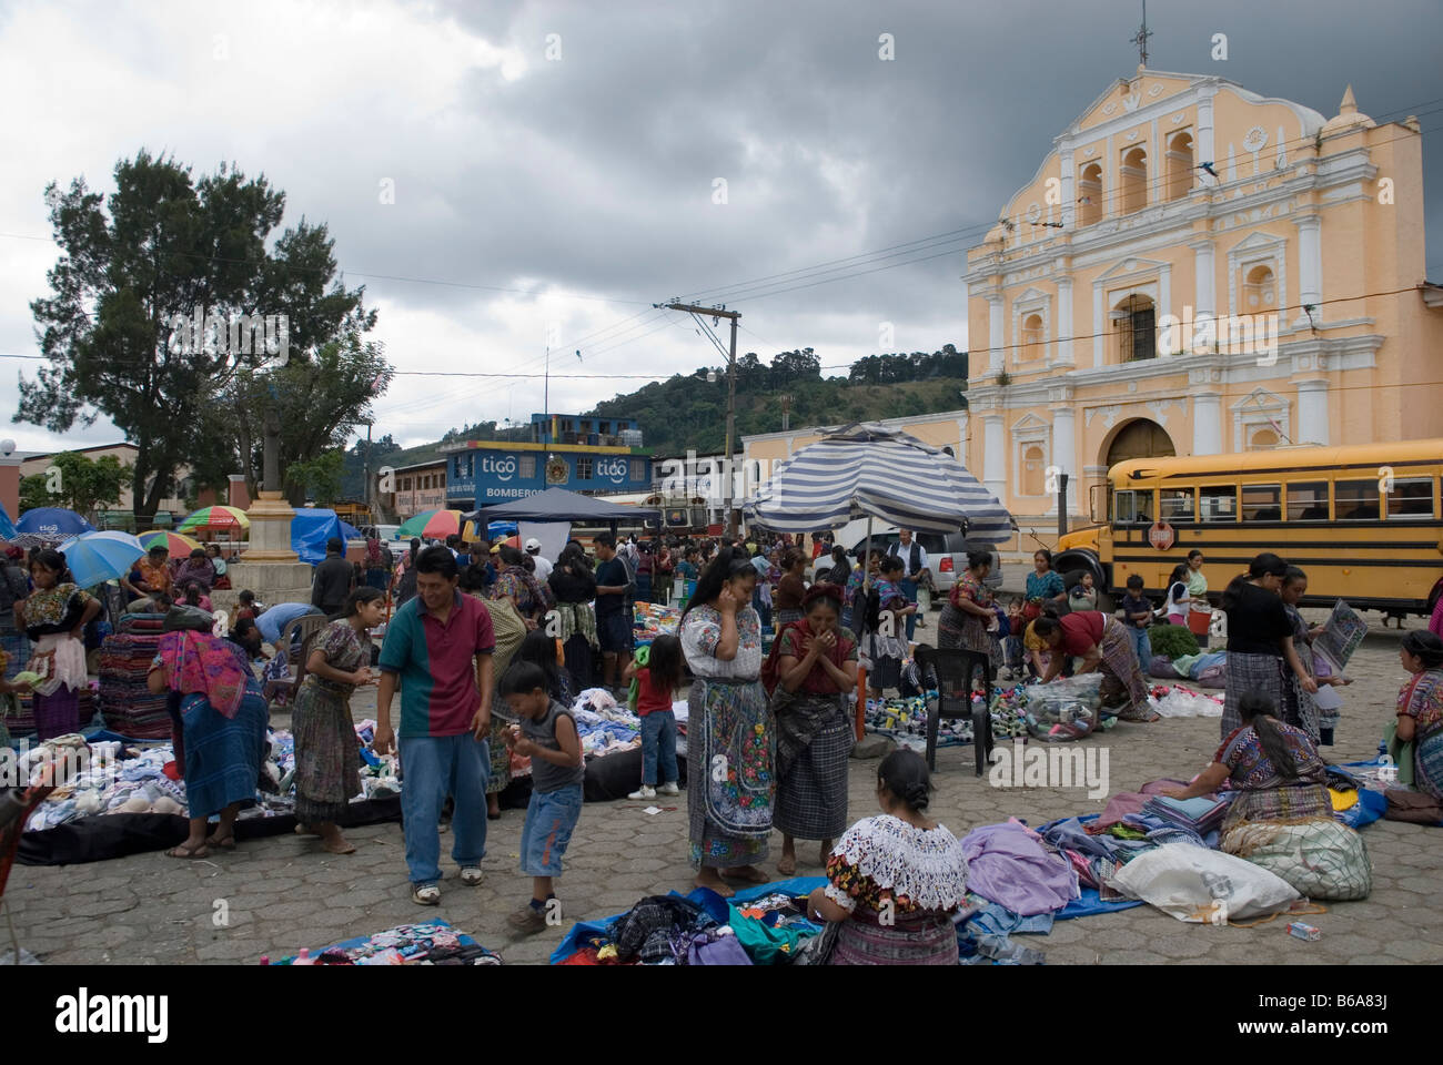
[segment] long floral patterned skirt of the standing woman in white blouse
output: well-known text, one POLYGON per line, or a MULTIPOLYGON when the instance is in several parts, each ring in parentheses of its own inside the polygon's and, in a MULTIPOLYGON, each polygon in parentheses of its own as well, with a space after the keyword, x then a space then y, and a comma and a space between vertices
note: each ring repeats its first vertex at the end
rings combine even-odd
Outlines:
POLYGON ((760 681, 691 685, 687 821, 691 864, 730 869, 766 860, 776 801, 776 727, 760 681))

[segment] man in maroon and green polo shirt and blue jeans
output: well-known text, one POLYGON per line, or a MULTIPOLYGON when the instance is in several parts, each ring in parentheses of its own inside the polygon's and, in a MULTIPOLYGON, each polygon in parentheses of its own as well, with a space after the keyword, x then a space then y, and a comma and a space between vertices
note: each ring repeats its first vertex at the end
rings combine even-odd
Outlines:
POLYGON ((486 853, 486 781, 491 775, 491 654, 496 647, 491 613, 462 595, 456 557, 429 547, 416 560, 416 597, 385 631, 375 710, 375 753, 394 745, 391 700, 401 685, 400 752, 405 771, 401 814, 411 898, 434 906, 442 893, 442 804, 456 799, 452 857, 460 882, 481 883, 486 853))

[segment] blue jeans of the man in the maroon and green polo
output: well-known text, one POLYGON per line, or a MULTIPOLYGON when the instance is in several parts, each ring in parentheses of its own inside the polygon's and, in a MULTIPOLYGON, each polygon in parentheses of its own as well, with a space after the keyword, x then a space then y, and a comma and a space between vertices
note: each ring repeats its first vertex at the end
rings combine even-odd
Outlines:
POLYGON ((491 745, 469 732, 460 736, 403 736, 401 817, 405 818, 405 864, 411 883, 442 879, 442 804, 456 799, 452 857, 457 866, 479 866, 486 854, 486 782, 491 745))

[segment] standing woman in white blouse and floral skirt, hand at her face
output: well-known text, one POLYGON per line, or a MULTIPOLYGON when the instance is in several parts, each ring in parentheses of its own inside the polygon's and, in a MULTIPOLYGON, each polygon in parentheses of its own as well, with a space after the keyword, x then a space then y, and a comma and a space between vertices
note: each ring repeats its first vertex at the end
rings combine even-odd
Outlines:
POLYGON ((687 820, 697 886, 723 898, 723 876, 766 883, 776 736, 762 672, 762 621, 752 608, 758 571, 726 548, 697 582, 681 618, 681 649, 696 683, 687 739, 687 820))

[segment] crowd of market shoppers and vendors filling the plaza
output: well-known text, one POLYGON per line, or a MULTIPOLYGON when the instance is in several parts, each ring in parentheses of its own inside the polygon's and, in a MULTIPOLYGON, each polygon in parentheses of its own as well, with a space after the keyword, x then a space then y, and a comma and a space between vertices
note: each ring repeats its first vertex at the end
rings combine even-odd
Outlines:
MULTIPOLYGON (((595 558, 573 540, 554 563, 541 557, 535 540, 522 547, 459 540, 423 547, 413 540, 400 557, 382 547, 372 537, 367 564, 355 566, 332 541, 316 567, 312 605, 299 605, 329 621, 304 644, 304 681, 291 709, 297 833, 329 853, 355 850, 342 831, 361 789, 351 697, 377 683, 372 749, 397 753, 405 766, 401 802, 414 902, 440 899, 447 821, 459 882, 482 882, 488 821, 501 815, 511 758, 530 756, 519 867, 531 898, 511 924, 518 934, 541 931, 557 905, 563 857, 583 805, 571 698, 597 683, 618 694, 615 685, 635 683, 642 779, 632 798, 680 794, 671 707, 678 694, 688 703, 687 820, 698 886, 730 896, 736 885, 771 880, 773 870, 765 866, 773 831, 782 837, 775 863, 782 876, 798 869, 798 841, 817 841, 827 885, 807 905, 828 925, 833 961, 955 963, 949 915, 965 903, 967 869, 957 838, 926 814, 924 759, 906 750, 883 759, 880 812, 848 827, 859 667, 870 670, 873 691, 898 687, 911 654, 909 622, 925 616, 918 592, 926 557, 909 534, 899 537, 899 550, 870 554, 866 564, 825 535, 808 551, 802 538, 636 543, 600 534, 595 558), (369 634, 385 616, 388 592, 397 609, 377 654, 369 634), (670 602, 674 592, 685 592, 677 635, 636 654, 631 603, 670 602)), ((59 553, 35 551, 27 569, 23 558, 12 548, 0 573, 0 647, 9 659, 0 693, 26 690, 12 683, 17 662, 45 662, 45 683, 33 683, 33 694, 46 737, 75 727, 75 691, 87 683, 81 639, 100 603, 69 580, 59 553)), ((1201 553, 1173 573, 1162 610, 1133 579, 1115 615, 1097 609, 1089 583, 1065 587, 1048 551, 1033 563, 1026 595, 1003 608, 987 587, 991 556, 968 556, 937 619, 939 647, 980 652, 1039 683, 1098 671, 1105 706, 1123 720, 1149 719, 1149 631, 1198 623, 1193 615, 1202 613, 1198 605, 1208 593, 1201 553)), ((205 599, 221 576, 208 551, 170 566, 157 547, 121 582, 133 608, 165 613, 149 685, 169 697, 188 788, 190 830, 167 851, 179 859, 235 847, 235 817, 254 798, 267 756, 268 707, 253 664, 264 623, 277 619, 267 619, 242 590, 235 626, 215 635, 205 599)), ((1221 746, 1190 785, 1172 794, 1189 798, 1224 784, 1238 791, 1225 836, 1244 824, 1330 815, 1317 748, 1330 742, 1335 719, 1323 717, 1312 696, 1319 684, 1346 680, 1317 675, 1307 647, 1317 628, 1297 612, 1306 582, 1300 569, 1260 554, 1222 593, 1228 690, 1221 746)), ((1411 632, 1400 661, 1410 680, 1398 694, 1394 750, 1414 788, 1437 804, 1443 639, 1411 632)))

